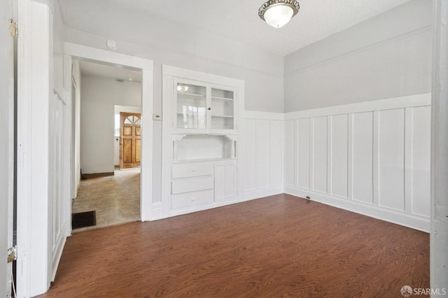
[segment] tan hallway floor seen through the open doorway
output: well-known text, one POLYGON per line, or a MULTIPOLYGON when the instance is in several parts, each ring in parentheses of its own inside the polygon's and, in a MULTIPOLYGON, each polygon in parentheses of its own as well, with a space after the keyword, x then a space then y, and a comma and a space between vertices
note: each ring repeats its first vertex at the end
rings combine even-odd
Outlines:
POLYGON ((72 213, 97 212, 97 225, 81 232, 140 220, 140 169, 117 170, 114 176, 81 180, 72 213))

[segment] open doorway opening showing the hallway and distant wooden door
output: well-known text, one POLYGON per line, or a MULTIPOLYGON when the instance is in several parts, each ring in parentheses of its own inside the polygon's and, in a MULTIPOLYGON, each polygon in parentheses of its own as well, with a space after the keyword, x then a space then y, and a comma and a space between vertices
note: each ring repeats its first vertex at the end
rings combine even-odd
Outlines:
MULTIPOLYGON (((72 232, 140 220, 140 167, 119 167, 123 145, 129 142, 123 138, 121 118, 117 136, 116 118, 120 113, 135 113, 141 119, 141 71, 74 59, 73 89, 78 97, 73 108, 74 169, 79 169, 80 179, 72 204, 72 232)), ((141 138, 139 122, 132 125, 132 134, 141 138)), ((134 161, 140 161, 136 139, 130 147, 134 161)))

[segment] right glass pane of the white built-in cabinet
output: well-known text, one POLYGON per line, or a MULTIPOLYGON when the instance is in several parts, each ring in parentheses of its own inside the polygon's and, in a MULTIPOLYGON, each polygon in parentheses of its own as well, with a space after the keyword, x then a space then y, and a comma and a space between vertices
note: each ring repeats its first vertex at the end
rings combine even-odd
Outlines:
POLYGON ((233 129, 234 92, 211 88, 211 129, 233 129))

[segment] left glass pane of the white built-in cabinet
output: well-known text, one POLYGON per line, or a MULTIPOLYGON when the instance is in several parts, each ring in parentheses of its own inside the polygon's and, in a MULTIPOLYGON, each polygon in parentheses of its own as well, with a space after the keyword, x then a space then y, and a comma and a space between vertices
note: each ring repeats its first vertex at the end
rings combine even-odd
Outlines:
POLYGON ((177 83, 177 128, 207 128, 206 87, 177 83))

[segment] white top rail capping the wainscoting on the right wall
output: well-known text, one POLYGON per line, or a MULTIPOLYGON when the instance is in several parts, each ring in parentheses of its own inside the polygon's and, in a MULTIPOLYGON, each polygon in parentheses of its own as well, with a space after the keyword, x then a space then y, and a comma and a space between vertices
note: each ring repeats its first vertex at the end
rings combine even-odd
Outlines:
POLYGON ((321 117, 327 115, 339 115, 347 113, 360 113, 366 111, 382 111, 394 108, 405 108, 414 106, 430 106, 431 94, 416 94, 405 97, 393 97, 390 99, 379 99, 374 101, 363 101, 356 104, 343 104, 340 106, 328 106, 325 108, 313 108, 304 111, 295 111, 285 114, 285 120, 321 117))

